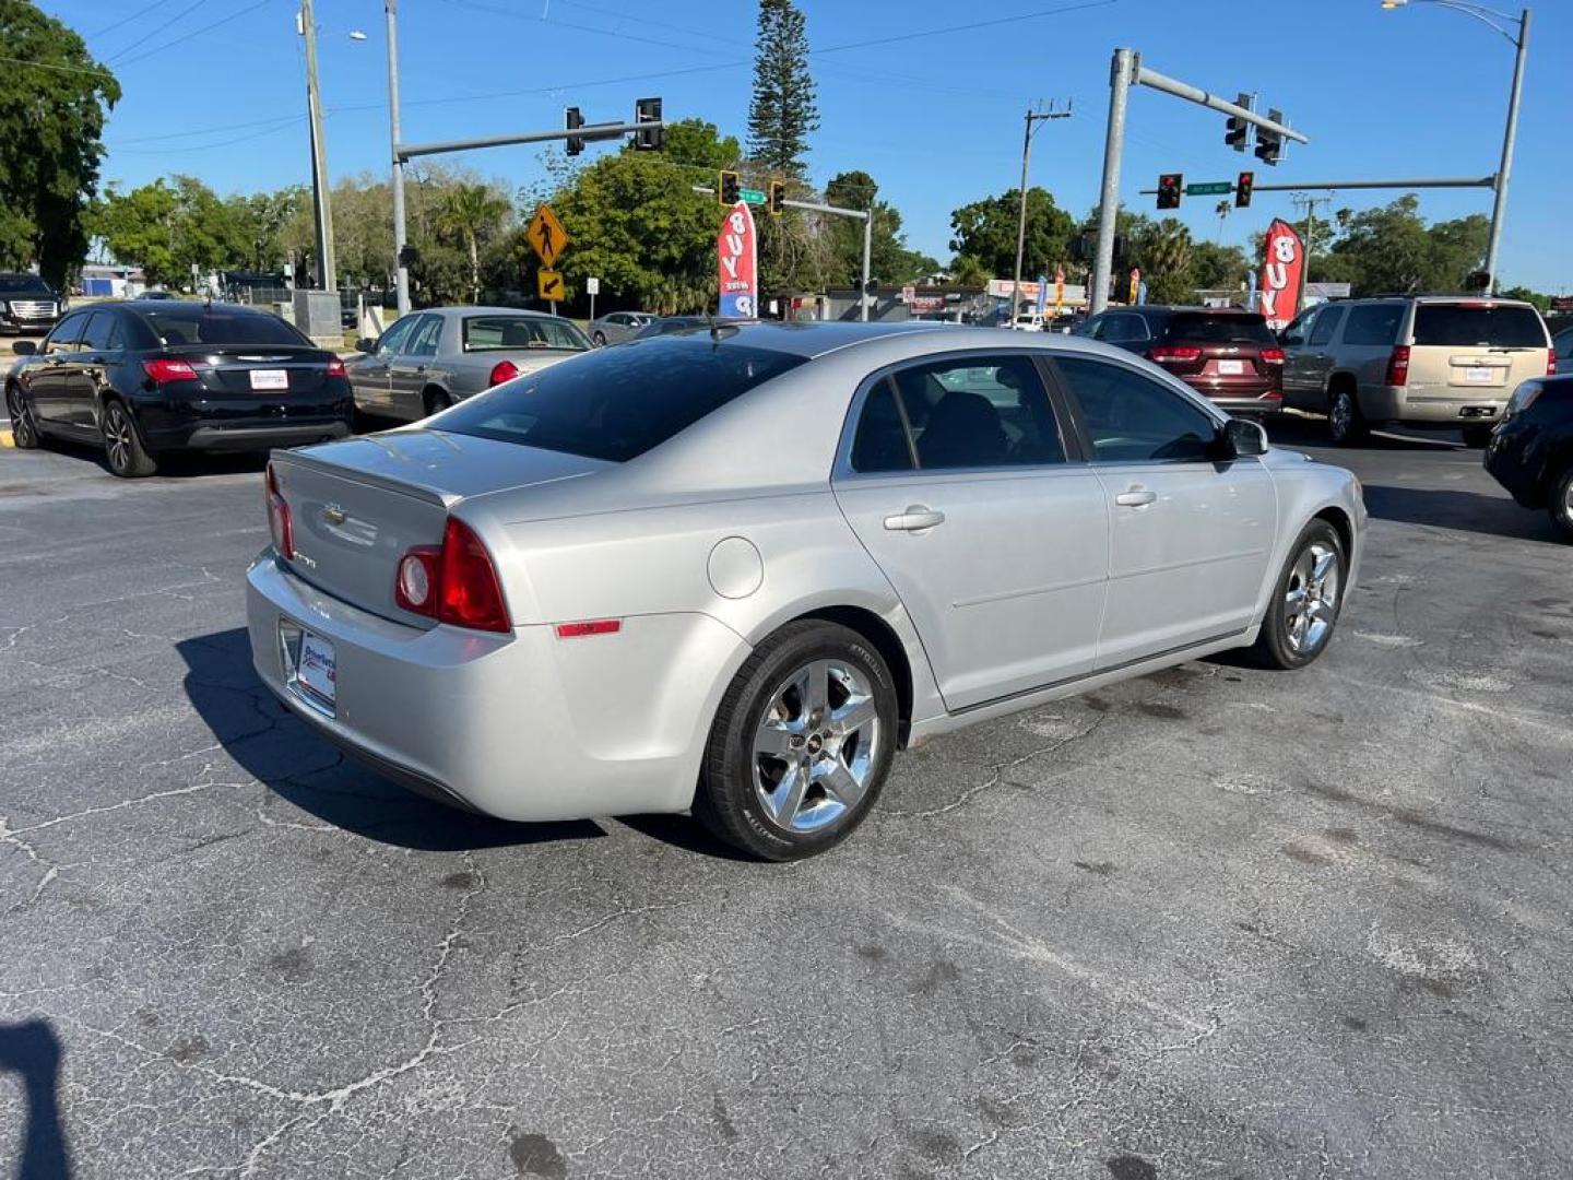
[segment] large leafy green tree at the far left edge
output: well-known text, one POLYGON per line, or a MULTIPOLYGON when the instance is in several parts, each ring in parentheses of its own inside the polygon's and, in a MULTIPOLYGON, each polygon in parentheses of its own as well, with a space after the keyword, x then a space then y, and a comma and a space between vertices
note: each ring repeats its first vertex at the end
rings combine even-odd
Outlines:
POLYGON ((55 285, 88 249, 115 76, 27 0, 0 0, 0 266, 36 263, 55 285))

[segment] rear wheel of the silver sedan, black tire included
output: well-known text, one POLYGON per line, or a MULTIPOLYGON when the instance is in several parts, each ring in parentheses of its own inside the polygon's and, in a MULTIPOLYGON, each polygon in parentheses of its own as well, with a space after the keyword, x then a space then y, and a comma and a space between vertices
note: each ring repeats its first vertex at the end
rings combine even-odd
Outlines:
POLYGON ((890 669, 862 636, 821 620, 788 623, 753 650, 722 697, 694 815, 716 837, 761 861, 796 861, 835 846, 864 821, 884 788, 895 755, 897 713, 890 669), (815 669, 826 670, 823 714, 799 692, 801 675, 812 677, 815 669), (851 695, 849 684, 860 691, 851 695), (873 716, 865 705, 859 727, 838 733, 835 714, 845 710, 851 719, 848 706, 856 700, 871 703, 873 716), (783 758, 757 749, 757 738, 771 736, 764 730, 772 716, 774 736, 794 747, 783 758), (793 766, 805 773, 805 787, 782 823, 761 793, 769 785, 769 796, 782 796, 785 810, 793 766), (846 791, 848 804, 829 784, 857 787, 859 766, 860 790, 846 791))

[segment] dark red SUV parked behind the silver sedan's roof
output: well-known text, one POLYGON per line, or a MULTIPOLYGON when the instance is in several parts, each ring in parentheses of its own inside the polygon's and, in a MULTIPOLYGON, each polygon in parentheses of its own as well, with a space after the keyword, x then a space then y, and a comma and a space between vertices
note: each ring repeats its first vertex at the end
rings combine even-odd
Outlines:
POLYGON ((1142 354, 1230 414, 1274 414, 1284 404, 1284 349, 1255 312, 1111 307, 1076 335, 1142 354))

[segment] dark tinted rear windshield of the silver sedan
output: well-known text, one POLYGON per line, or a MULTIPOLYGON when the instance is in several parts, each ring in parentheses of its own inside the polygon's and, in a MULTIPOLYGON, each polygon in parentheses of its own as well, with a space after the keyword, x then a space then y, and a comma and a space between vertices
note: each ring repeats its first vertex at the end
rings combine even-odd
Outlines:
POLYGON ((624 463, 804 359, 709 332, 598 348, 461 401, 442 430, 624 463))

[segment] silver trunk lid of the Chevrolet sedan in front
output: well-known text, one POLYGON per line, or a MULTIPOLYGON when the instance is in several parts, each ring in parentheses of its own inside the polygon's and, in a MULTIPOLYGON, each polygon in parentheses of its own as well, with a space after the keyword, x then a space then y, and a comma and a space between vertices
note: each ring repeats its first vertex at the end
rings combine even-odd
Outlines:
POLYGON ((333 598, 420 628, 434 621, 395 603, 398 563, 412 546, 440 546, 448 513, 461 500, 612 466, 436 430, 277 452, 272 463, 289 507, 289 568, 333 598))

